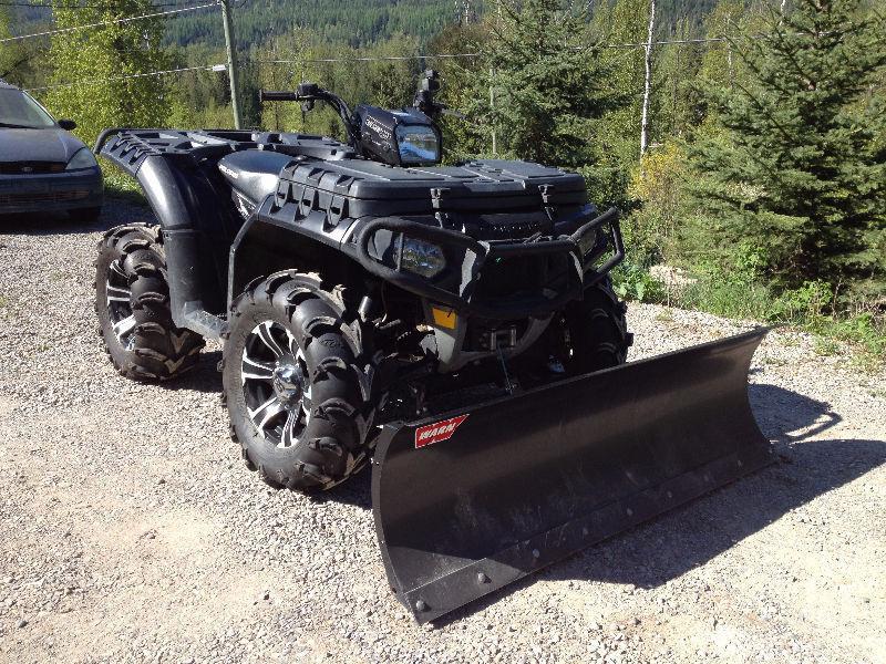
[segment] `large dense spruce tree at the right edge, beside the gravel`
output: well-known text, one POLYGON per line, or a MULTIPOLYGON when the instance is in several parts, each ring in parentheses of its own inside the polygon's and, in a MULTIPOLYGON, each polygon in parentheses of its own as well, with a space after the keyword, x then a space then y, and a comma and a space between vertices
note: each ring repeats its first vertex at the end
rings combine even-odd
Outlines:
POLYGON ((742 245, 782 288, 883 292, 886 113, 859 100, 886 65, 886 25, 857 9, 796 0, 732 40, 746 79, 710 93, 723 132, 691 151, 690 247, 715 246, 728 266, 742 245))

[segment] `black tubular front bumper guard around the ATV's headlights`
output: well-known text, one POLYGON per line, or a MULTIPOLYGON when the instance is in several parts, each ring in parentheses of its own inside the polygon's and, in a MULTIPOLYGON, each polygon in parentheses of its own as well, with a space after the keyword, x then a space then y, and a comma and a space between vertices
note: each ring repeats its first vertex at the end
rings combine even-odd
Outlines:
POLYGON ((618 217, 618 209, 611 208, 570 235, 517 241, 480 241, 454 230, 382 218, 361 230, 357 257, 381 279, 465 315, 487 320, 544 317, 580 300, 585 289, 625 259, 618 217), (370 245, 379 232, 390 234, 394 243, 405 236, 442 247, 446 272, 425 279, 373 256, 370 245))

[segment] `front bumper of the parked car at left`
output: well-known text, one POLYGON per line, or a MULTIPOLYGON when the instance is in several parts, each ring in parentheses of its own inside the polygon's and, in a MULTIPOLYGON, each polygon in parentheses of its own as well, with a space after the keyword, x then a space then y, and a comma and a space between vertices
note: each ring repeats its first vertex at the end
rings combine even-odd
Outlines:
POLYGON ((99 168, 38 175, 0 175, 0 214, 66 211, 100 207, 99 168))

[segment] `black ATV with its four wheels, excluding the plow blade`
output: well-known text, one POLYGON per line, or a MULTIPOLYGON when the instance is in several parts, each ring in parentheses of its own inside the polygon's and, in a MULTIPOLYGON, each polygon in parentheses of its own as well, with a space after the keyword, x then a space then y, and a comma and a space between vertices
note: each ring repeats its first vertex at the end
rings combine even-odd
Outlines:
POLYGON ((96 152, 159 225, 100 246, 96 310, 126 376, 163 381, 222 338, 231 430, 267 481, 329 488, 380 424, 625 362, 617 211, 578 175, 440 166, 436 74, 414 107, 323 102, 347 143, 266 132, 110 129, 96 152), (472 395, 472 396, 465 396, 472 395))

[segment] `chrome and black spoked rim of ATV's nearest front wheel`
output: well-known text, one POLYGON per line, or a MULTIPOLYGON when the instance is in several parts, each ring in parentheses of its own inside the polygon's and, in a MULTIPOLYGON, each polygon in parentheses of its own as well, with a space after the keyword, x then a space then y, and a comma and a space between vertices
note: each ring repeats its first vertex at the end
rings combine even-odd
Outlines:
POLYGON ((243 347, 240 377, 249 419, 277 447, 299 442, 311 416, 305 353, 280 323, 256 325, 243 347))

